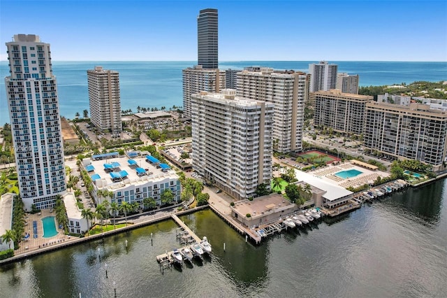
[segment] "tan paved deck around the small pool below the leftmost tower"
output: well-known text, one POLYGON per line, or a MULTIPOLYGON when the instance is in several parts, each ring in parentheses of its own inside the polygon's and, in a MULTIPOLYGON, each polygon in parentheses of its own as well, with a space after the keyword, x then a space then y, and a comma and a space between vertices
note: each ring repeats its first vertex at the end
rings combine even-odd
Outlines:
POLYGON ((57 227, 57 223, 54 222, 57 229, 57 235, 52 236, 50 238, 43 238, 43 222, 42 219, 48 216, 55 216, 54 212, 51 212, 49 209, 44 209, 40 213, 29 214, 27 213, 27 217, 25 220, 27 224, 25 227, 25 233, 29 233, 29 239, 24 240, 20 243, 20 248, 14 251, 15 255, 19 255, 21 253, 27 253, 30 250, 36 250, 38 248, 44 248, 46 246, 52 246, 57 243, 62 243, 64 241, 68 241, 73 238, 71 236, 64 235, 64 229, 59 229, 57 227), (33 238, 33 221, 37 222, 37 238, 33 238))

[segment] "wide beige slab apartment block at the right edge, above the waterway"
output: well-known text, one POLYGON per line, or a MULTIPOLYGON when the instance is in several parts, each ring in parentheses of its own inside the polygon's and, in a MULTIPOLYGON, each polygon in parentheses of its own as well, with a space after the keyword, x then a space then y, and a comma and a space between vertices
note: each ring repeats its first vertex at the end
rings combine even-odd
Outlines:
POLYGON ((416 159, 446 169, 447 113, 426 104, 366 105, 364 145, 392 158, 416 159))

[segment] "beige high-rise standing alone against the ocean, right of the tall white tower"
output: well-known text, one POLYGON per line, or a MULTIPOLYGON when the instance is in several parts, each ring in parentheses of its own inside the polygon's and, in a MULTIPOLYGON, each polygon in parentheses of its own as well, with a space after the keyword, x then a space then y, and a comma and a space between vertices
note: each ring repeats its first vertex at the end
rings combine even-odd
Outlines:
POLYGON ((122 132, 119 73, 95 66, 87 71, 90 120, 101 132, 122 132))

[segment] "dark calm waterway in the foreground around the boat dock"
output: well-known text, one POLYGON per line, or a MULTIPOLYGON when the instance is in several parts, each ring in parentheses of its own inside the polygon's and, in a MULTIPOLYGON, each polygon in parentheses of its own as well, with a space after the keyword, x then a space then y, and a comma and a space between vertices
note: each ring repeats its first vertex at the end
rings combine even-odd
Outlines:
POLYGON ((3 266, 1 296, 112 297, 115 281, 118 297, 446 297, 446 199, 442 180, 258 247, 200 211, 182 219, 212 243, 203 263, 159 271, 177 247, 168 220, 3 266))

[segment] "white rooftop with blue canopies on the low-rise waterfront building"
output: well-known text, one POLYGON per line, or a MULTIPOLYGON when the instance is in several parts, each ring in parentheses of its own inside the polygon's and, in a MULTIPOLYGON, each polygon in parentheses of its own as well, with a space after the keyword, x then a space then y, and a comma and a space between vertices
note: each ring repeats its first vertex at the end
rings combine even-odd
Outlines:
POLYGON ((127 152, 124 156, 113 153, 115 155, 94 155, 82 160, 91 180, 99 188, 117 189, 129 184, 145 184, 151 180, 156 182, 165 178, 178 178, 168 164, 163 164, 148 152, 127 152))

